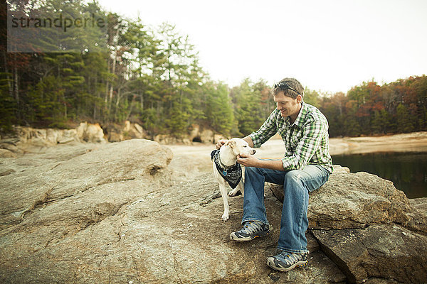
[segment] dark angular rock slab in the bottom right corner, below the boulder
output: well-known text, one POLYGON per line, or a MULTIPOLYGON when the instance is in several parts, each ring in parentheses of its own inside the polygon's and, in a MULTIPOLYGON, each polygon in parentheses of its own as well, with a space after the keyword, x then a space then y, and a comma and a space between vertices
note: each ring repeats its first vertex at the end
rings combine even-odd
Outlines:
POLYGON ((364 283, 373 277, 399 283, 427 282, 427 237, 424 235, 396 224, 312 232, 350 283, 364 283))

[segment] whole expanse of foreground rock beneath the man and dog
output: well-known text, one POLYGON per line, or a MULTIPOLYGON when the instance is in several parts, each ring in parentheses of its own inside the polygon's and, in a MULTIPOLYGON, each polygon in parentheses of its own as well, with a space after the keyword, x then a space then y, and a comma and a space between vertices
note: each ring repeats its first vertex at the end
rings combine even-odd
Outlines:
POLYGON ((277 245, 280 190, 265 186, 271 234, 236 244, 228 234, 242 197, 221 222, 211 173, 172 150, 71 142, 1 159, 0 282, 427 282, 427 198, 336 166, 310 197, 310 265, 278 273, 265 258, 277 245))

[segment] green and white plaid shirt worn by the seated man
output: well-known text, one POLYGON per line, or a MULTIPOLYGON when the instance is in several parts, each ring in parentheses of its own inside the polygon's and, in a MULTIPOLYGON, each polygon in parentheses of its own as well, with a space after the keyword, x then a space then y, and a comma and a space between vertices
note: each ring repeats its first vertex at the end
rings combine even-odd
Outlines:
POLYGON ((321 165, 332 173, 328 128, 327 119, 320 110, 303 102, 300 114, 293 124, 290 124, 289 116, 283 118, 280 111, 275 109, 260 129, 249 136, 253 146, 260 147, 275 133, 279 133, 286 148, 282 158, 285 170, 298 170, 305 165, 321 165))

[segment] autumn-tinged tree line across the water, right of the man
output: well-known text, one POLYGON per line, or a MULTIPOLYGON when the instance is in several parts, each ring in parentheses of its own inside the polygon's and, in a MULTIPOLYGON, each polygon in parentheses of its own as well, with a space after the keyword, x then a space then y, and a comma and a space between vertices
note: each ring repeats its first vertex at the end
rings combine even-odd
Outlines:
POLYGON ((312 97, 327 116, 332 137, 427 131, 426 75, 382 85, 371 80, 347 94, 312 97))

